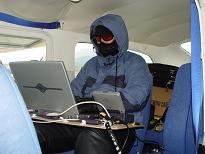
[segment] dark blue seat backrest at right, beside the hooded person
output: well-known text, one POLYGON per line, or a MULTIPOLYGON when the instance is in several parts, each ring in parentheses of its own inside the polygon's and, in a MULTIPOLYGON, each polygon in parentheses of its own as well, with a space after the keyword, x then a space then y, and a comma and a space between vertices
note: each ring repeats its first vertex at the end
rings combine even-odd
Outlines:
POLYGON ((191 99, 191 65, 184 64, 177 72, 166 113, 163 132, 165 153, 196 153, 191 99))

